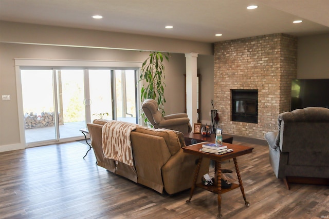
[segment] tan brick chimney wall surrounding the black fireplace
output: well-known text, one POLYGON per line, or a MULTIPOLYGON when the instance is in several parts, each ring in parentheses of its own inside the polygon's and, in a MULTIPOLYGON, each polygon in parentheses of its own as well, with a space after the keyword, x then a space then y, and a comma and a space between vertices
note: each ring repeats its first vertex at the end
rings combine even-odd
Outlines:
POLYGON ((214 106, 223 133, 264 139, 266 132, 277 130, 278 114, 290 110, 297 38, 278 33, 214 46, 214 106), (258 90, 257 124, 231 121, 231 89, 258 90))

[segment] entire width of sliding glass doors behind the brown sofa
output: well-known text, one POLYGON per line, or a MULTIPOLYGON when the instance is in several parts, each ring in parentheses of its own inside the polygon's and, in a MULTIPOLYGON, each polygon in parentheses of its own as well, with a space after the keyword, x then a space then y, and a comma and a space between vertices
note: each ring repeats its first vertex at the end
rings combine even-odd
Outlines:
POLYGON ((21 69, 21 81, 28 145, 82 138, 95 118, 137 123, 136 70, 21 69))

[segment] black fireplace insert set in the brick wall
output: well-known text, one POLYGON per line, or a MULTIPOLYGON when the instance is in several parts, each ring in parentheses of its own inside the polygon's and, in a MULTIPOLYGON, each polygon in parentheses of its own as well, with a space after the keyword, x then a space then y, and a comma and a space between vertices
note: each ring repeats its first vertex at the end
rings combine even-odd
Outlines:
POLYGON ((258 90, 231 90, 232 121, 258 122, 258 90))

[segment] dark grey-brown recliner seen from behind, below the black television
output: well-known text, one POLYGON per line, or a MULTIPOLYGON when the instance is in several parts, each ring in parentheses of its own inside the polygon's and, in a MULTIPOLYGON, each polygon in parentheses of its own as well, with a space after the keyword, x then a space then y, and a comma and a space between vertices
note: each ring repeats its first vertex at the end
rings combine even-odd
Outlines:
POLYGON ((269 160, 277 178, 291 183, 329 182, 329 109, 307 107, 278 116, 278 132, 267 132, 269 160))

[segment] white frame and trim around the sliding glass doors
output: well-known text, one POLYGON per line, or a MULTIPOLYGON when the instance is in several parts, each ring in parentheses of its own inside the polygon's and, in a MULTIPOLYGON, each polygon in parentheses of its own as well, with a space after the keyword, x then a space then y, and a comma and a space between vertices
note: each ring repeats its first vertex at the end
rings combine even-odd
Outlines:
MULTIPOLYGON (((111 70, 135 70, 136 78, 137 75, 140 73, 140 69, 142 66, 142 62, 111 62, 111 61, 80 61, 80 60, 56 60, 56 59, 26 59, 26 58, 15 58, 15 75, 16 75, 16 92, 17 92, 17 109, 19 113, 19 126, 20 126, 20 148, 27 148, 27 147, 35 147, 35 146, 42 146, 46 144, 57 144, 66 141, 72 141, 68 139, 61 140, 59 139, 56 142, 40 142, 36 144, 27 145, 25 142, 25 128, 24 128, 24 110, 23 110, 23 96, 22 96, 22 81, 21 81, 21 68, 23 69, 52 69, 53 70, 53 77, 56 77, 54 71, 59 69, 67 69, 67 68, 77 68, 77 69, 84 69, 84 75, 88 74, 89 68, 100 68, 100 69, 111 69, 111 70)), ((86 84, 86 80, 84 84, 86 84)), ((141 106, 140 98, 139 98, 139 88, 140 83, 137 84, 136 89, 136 117, 139 118, 138 109, 141 106)), ((88 90, 89 91, 89 90, 88 90)), ((87 92, 85 90, 85 92, 87 92)), ((86 106, 85 106, 86 107, 86 106)), ((114 108, 113 108, 114 109, 114 108)), ((89 109, 90 110, 90 109, 89 109)), ((58 117, 57 117, 58 120, 58 117)), ((138 120, 140 121, 140 120, 138 120)), ((58 122, 58 121, 57 121, 58 122)), ((86 123, 90 121, 90 111, 87 113, 86 111, 86 123)), ((57 137, 56 137, 57 138, 57 137)), ((81 136, 81 140, 84 136, 81 136)))

